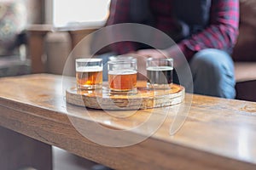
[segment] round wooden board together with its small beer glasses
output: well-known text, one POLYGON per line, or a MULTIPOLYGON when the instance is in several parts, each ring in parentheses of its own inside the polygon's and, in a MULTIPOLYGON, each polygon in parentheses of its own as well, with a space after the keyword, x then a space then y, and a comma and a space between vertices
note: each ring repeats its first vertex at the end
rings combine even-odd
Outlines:
POLYGON ((147 59, 147 81, 137 81, 137 59, 108 61, 108 82, 102 81, 102 59, 76 59, 76 86, 67 103, 102 110, 140 110, 177 105, 185 89, 172 83, 172 59, 147 59))

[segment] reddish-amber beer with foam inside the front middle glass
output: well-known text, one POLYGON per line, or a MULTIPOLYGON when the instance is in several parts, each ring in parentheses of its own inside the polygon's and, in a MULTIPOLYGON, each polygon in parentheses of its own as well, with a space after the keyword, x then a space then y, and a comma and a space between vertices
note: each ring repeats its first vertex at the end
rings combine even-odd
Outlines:
POLYGON ((137 88, 137 71, 109 71, 108 82, 113 91, 134 90, 137 88))

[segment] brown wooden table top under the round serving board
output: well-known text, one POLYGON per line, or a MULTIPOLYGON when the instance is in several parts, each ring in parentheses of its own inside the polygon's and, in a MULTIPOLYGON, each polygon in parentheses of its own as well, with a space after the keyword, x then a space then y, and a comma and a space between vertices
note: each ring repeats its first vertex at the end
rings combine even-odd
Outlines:
POLYGON ((256 168, 256 103, 186 94, 180 105, 106 114, 67 104, 66 81, 48 74, 1 78, 0 126, 117 169, 256 168), (170 135, 183 111, 189 111, 183 126, 170 135), (112 138, 94 123, 130 133, 112 138))

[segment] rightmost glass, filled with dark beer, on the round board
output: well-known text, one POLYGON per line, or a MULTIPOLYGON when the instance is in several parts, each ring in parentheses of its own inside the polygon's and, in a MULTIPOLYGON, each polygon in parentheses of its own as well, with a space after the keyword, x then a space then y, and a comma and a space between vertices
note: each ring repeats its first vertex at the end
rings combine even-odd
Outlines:
POLYGON ((147 59, 148 88, 171 88, 173 59, 147 59))

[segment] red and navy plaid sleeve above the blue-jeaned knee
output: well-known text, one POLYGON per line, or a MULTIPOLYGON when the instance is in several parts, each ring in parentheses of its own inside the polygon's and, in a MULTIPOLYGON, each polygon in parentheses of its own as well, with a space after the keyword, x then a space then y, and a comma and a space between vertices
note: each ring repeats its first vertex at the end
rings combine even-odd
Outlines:
POLYGON ((210 16, 210 24, 204 31, 178 44, 187 59, 204 48, 229 52, 234 47, 238 35, 239 0, 212 0, 210 16))

